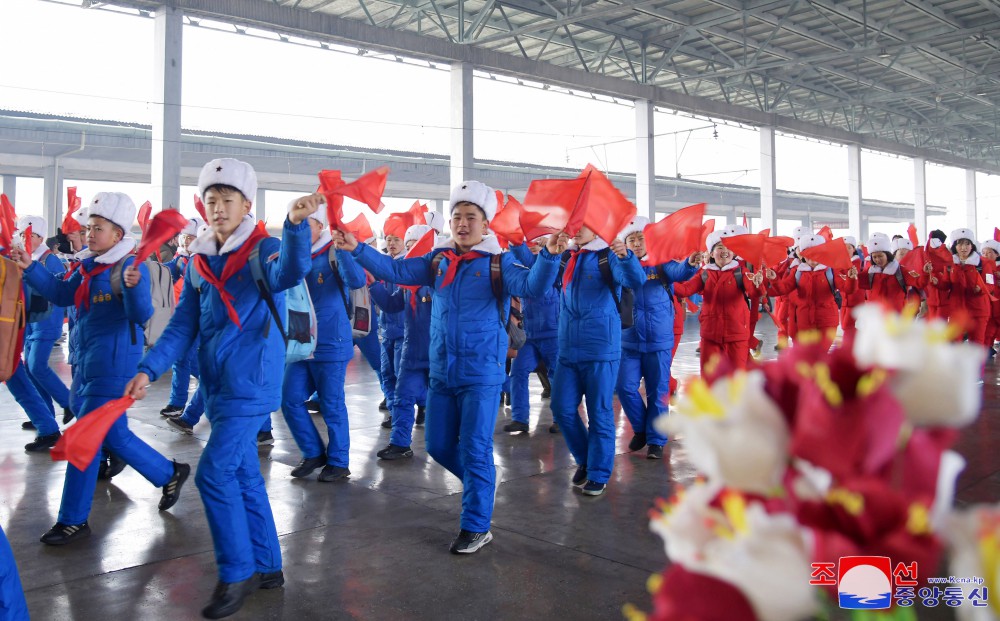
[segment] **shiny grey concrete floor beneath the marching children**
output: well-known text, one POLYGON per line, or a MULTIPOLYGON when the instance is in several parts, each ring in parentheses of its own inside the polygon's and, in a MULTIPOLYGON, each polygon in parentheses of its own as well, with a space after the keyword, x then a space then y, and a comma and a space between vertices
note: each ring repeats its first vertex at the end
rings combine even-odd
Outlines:
MULTIPOLYGON (((697 372, 697 321, 690 318, 675 373, 697 372)), ((773 356, 774 326, 758 334, 773 356)), ((65 352, 53 366, 69 382, 65 352)), ((969 466, 958 502, 1000 499, 1000 377, 987 366, 983 416, 966 429, 958 450, 969 466)), ((459 481, 423 449, 414 435, 412 460, 380 462, 388 442, 377 404, 375 374, 360 358, 348 367, 351 416, 350 480, 319 483, 292 479, 300 459, 280 414, 273 416, 273 447, 260 451, 284 555, 283 589, 260 591, 233 619, 621 619, 633 602, 648 609, 645 582, 666 563, 661 540, 648 528, 647 512, 694 472, 682 442, 666 459, 628 453, 632 430, 616 402, 618 456, 607 493, 584 497, 571 488, 572 458, 560 435, 549 434, 548 402, 532 384, 532 431, 510 436, 497 417, 496 462, 504 471, 493 516, 495 540, 478 554, 457 557, 448 546, 458 532, 459 481)), ((167 402, 169 378, 129 411, 129 424, 169 458, 196 463, 208 437, 202 422, 194 436, 177 433, 158 412, 167 402)), ((216 582, 211 537, 193 483, 171 511, 157 511, 160 490, 132 469, 98 482, 91 513, 93 535, 65 548, 38 537, 54 522, 64 463, 26 454, 31 434, 6 388, 0 388, 0 524, 18 561, 34 619, 200 618, 216 582)), ((921 618, 947 618, 927 610, 921 618)))

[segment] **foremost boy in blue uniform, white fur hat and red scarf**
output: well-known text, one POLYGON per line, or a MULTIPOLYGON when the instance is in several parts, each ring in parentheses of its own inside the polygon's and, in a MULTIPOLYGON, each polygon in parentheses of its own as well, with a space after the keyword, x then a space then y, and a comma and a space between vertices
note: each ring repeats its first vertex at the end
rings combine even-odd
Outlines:
POLYGON ((249 197, 257 196, 257 176, 249 164, 230 158, 209 162, 198 177, 198 191, 211 228, 189 247, 191 263, 174 316, 126 392, 143 398, 150 380, 198 339, 199 390, 205 395, 212 431, 195 484, 219 566, 219 582, 202 614, 219 619, 239 610, 258 588, 284 584, 278 533, 256 445, 258 430, 281 403, 281 375, 274 370, 285 366, 284 339, 265 295, 272 296, 282 316, 282 292, 309 271, 306 218, 321 197, 299 199, 279 241, 249 215, 249 197), (252 261, 262 274, 259 284, 252 261))

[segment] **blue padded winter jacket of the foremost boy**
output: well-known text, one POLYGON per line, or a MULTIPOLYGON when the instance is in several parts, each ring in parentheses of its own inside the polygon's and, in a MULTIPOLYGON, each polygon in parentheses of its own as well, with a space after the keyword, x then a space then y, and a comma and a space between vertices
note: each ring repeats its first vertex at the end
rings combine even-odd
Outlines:
MULTIPOLYGON (((309 271, 310 245, 309 225, 305 221, 292 224, 287 219, 281 240, 269 237, 260 242, 259 258, 279 316, 285 312, 282 292, 295 286, 309 271)), ((232 254, 203 256, 219 276, 232 254)), ((174 316, 142 359, 139 371, 155 381, 198 338, 201 390, 212 416, 259 416, 277 410, 281 405, 285 343, 257 291, 249 262, 226 283, 242 329, 230 321, 215 287, 202 281, 200 292, 194 288, 190 278, 193 269, 192 261, 174 316)))

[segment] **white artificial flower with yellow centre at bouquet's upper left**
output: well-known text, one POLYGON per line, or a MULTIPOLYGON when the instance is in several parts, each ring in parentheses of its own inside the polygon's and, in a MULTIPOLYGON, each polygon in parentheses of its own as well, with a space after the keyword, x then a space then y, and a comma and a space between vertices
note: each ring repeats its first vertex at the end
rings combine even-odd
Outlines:
POLYGON ((739 371, 711 387, 694 380, 657 429, 681 435, 692 464, 712 482, 771 494, 788 465, 789 430, 764 392, 764 374, 739 371))

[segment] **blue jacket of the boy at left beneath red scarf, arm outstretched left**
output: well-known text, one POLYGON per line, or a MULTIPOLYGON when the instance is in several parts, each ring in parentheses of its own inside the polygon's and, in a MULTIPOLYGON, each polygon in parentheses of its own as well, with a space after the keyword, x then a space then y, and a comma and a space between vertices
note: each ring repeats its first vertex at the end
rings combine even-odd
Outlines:
MULTIPOLYGON (((123 269, 132 265, 126 257, 123 269)), ((94 267, 94 257, 84 259, 87 270, 94 267)), ((112 268, 113 269, 113 268, 112 268)), ((143 324, 153 316, 149 294, 149 270, 139 265, 140 282, 134 287, 122 286, 122 299, 111 291, 111 269, 97 274, 90 281, 90 307, 77 309, 76 374, 80 377, 80 397, 122 396, 125 384, 135 375, 142 358, 143 324)), ((38 261, 24 270, 24 277, 35 291, 56 306, 71 306, 73 296, 83 282, 75 271, 69 280, 52 275, 38 261)))

